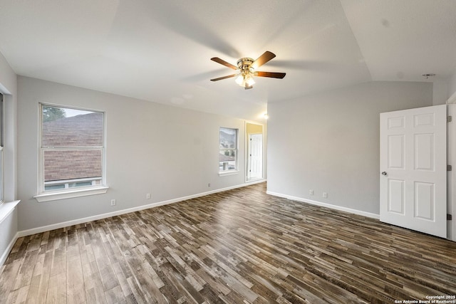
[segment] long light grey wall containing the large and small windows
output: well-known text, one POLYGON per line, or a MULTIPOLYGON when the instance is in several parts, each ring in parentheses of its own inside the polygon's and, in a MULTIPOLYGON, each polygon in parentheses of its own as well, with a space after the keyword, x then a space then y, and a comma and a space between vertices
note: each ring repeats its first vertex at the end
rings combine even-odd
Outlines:
POLYGON ((239 129, 242 156, 244 120, 26 77, 19 77, 18 90, 20 231, 244 184, 243 157, 239 174, 218 174, 219 127, 239 129), (42 203, 33 199, 40 102, 105 111, 108 193, 42 203), (110 199, 117 205, 110 206, 110 199))

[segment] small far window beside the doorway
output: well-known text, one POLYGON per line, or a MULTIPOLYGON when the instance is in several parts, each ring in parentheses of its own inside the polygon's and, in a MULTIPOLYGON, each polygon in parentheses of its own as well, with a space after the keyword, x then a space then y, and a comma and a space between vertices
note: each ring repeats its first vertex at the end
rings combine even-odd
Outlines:
POLYGON ((220 128, 219 172, 237 170, 237 129, 220 128))

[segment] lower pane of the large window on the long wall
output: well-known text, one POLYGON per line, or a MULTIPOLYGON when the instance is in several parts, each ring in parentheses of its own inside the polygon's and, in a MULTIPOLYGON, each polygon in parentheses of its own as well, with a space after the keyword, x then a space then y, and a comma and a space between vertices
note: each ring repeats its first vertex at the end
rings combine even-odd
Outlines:
POLYGON ((43 154, 44 182, 102 176, 101 150, 45 150, 43 154))

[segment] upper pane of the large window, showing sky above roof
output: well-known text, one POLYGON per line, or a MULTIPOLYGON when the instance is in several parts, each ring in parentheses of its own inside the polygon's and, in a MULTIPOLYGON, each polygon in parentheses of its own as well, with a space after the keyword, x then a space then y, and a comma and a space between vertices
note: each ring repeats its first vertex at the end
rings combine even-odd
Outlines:
POLYGON ((102 147, 103 113, 43 105, 42 147, 102 147))

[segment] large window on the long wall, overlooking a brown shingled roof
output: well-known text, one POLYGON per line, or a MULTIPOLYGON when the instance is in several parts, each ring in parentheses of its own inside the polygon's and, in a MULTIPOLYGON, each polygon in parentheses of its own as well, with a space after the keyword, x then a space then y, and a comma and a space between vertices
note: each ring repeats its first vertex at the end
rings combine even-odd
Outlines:
POLYGON ((104 187, 104 126, 103 112, 41 104, 41 194, 104 187))

